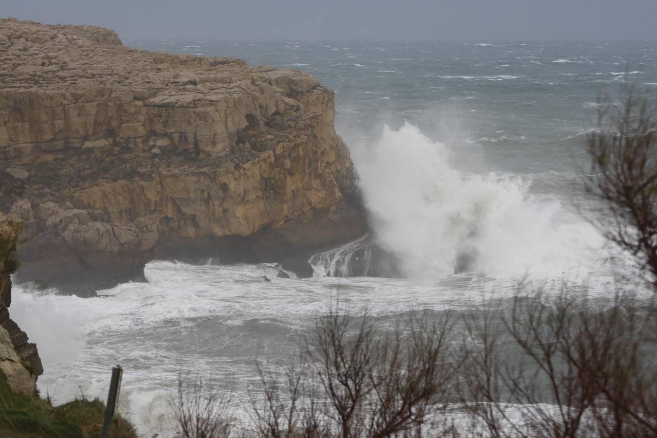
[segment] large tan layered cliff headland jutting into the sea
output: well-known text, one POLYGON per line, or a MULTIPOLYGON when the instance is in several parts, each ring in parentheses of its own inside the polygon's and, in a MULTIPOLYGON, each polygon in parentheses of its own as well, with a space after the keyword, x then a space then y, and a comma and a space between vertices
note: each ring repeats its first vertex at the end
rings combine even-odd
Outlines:
POLYGON ((365 232, 312 76, 12 19, 0 63, 0 211, 26 223, 22 278, 110 286, 183 248, 275 261, 365 232))

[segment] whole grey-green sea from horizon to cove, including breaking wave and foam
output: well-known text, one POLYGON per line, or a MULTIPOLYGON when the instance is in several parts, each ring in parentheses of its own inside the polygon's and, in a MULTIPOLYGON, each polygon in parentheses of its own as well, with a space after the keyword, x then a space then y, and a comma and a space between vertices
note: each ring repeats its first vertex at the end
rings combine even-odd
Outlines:
POLYGON ((298 68, 334 89, 336 130, 379 243, 408 278, 323 275, 345 248, 318 257, 308 279, 275 278, 270 265, 153 261, 147 283, 91 299, 18 286, 12 317, 37 343, 39 389, 56 402, 106 397, 119 363, 120 412, 141 432, 168 436, 181 371, 207 376, 237 395, 236 412, 248 410, 256 359, 286 363, 337 297, 392 324, 409 310, 465 313, 487 297, 509 299, 521 280, 555 293, 585 284, 604 300, 618 264, 626 268, 582 217, 595 204, 580 169, 598 96, 614 100, 626 81, 657 93, 654 41, 125 43, 298 68))

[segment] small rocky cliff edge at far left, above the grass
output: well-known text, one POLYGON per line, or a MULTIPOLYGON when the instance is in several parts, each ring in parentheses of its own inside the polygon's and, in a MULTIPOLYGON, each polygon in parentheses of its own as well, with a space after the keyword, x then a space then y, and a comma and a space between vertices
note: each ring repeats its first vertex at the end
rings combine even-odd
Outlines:
POLYGON ((0 372, 10 387, 23 395, 32 395, 37 376, 43 373, 34 343, 9 317, 11 274, 18 262, 14 257, 23 224, 0 213, 0 372))

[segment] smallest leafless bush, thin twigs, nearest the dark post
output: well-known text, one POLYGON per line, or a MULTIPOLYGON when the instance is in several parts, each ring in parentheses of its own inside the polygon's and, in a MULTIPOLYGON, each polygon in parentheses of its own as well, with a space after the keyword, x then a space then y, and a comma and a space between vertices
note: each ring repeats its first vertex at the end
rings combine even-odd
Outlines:
POLYGON ((181 438, 226 438, 231 434, 229 398, 200 377, 180 376, 171 405, 181 438))

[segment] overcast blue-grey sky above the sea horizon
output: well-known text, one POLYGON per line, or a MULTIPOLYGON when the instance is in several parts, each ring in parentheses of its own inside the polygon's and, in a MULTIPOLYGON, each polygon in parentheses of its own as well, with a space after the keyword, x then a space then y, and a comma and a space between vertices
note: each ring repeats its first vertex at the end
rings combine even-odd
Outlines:
POLYGON ((657 0, 0 0, 123 39, 656 39, 657 0))

